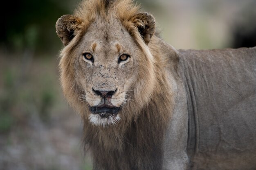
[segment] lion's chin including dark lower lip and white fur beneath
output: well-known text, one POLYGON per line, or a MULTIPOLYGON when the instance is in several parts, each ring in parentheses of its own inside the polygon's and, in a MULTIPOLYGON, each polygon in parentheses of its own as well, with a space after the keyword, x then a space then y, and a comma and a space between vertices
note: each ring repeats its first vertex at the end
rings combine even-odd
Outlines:
POLYGON ((96 126, 103 127, 116 125, 121 120, 120 116, 118 115, 119 110, 119 107, 90 107, 90 111, 92 113, 89 115, 89 122, 96 126))

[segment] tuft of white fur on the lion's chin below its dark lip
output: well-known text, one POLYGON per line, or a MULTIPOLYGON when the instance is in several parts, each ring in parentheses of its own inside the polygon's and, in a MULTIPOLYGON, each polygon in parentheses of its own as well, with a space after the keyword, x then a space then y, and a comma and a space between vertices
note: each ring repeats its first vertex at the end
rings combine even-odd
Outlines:
POLYGON ((116 125, 117 122, 121 120, 120 116, 109 116, 108 118, 102 118, 99 114, 90 114, 89 115, 89 122, 96 126, 109 126, 109 125, 116 125))

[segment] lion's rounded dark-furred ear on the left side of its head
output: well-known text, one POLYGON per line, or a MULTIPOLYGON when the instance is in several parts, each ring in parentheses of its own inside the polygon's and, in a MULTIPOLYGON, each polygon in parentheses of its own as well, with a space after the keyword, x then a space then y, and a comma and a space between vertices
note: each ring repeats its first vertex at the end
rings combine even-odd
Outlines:
POLYGON ((73 15, 63 15, 56 22, 56 33, 64 46, 74 38, 81 21, 73 15))

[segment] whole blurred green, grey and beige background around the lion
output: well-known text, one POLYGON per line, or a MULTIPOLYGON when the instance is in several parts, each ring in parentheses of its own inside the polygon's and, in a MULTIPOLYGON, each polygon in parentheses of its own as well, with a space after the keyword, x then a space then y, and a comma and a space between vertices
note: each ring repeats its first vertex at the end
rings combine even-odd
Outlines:
MULTIPOLYGON (((0 13, 0 170, 91 170, 58 81, 55 22, 79 0, 6 1, 0 13)), ((256 0, 138 0, 175 48, 256 46, 256 0)))

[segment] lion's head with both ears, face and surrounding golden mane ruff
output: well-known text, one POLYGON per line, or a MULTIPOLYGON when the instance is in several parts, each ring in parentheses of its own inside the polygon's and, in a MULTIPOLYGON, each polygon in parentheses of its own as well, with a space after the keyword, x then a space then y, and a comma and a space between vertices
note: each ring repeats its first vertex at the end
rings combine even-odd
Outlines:
POLYGON ((131 0, 87 0, 59 18, 56 30, 65 45, 61 84, 71 105, 95 125, 136 118, 155 87, 148 48, 154 17, 139 13, 131 0))

